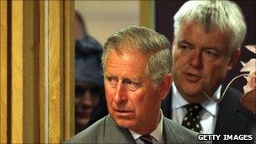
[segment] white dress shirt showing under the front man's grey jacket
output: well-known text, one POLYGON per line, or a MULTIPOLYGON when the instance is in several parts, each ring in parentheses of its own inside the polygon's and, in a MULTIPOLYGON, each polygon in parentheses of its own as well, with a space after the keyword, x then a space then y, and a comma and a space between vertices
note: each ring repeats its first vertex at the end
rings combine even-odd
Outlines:
MULTIPOLYGON (((160 111, 161 111, 161 114, 160 114, 161 119, 157 125, 157 128, 154 131, 152 131, 152 133, 150 133, 150 136, 153 137, 153 140, 152 140, 153 144, 163 143, 163 112, 162 110, 160 111)), ((131 130, 129 131, 131 132, 132 137, 136 141, 136 144, 144 144, 144 142, 141 141, 140 139, 140 137, 142 136, 141 134, 138 134, 135 131, 131 131, 131 130)))

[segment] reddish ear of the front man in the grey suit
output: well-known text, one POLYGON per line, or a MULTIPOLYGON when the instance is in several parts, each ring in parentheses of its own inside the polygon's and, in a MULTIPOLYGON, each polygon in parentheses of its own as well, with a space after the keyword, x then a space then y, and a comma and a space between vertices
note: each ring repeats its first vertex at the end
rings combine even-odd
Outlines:
POLYGON ((170 91, 171 85, 173 83, 173 76, 171 74, 167 74, 163 77, 163 82, 159 84, 158 93, 160 96, 160 99, 165 99, 167 94, 170 91))

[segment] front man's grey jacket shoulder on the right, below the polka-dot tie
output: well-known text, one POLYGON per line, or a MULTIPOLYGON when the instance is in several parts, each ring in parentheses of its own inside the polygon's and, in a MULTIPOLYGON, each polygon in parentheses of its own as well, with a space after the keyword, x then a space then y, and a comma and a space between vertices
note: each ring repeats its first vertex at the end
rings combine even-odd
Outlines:
POLYGON ((198 141, 199 133, 191 131, 182 125, 176 124, 168 118, 163 119, 166 137, 171 137, 172 143, 211 143, 211 141, 198 141))

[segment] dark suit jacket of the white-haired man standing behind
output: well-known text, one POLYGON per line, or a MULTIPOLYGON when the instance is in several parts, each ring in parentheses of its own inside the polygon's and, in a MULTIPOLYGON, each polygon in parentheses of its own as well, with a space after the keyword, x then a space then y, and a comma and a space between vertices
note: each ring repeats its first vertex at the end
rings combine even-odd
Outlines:
MULTIPOLYGON (((253 139, 256 139, 256 116, 248 109, 243 108, 239 100, 240 92, 234 88, 227 88, 227 93, 219 104, 215 134, 254 134, 253 139)), ((172 119, 172 93, 168 94, 166 99, 163 99, 161 109, 163 115, 172 119)), ((91 120, 88 125, 92 125, 95 121, 108 115, 108 109, 104 96, 102 97, 99 106, 94 110, 91 120)), ((227 143, 227 141, 213 141, 213 143, 227 143)), ((243 141, 232 141, 233 143, 241 143, 243 141)), ((244 143, 253 143, 253 141, 244 141, 244 143)), ((255 142, 256 143, 256 142, 255 142)))

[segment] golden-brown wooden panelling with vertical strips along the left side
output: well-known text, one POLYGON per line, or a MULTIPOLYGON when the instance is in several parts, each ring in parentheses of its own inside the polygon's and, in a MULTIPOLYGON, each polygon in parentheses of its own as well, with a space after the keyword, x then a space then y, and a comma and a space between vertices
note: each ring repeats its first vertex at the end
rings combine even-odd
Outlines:
POLYGON ((74 133, 74 3, 0 1, 0 143, 74 133))

